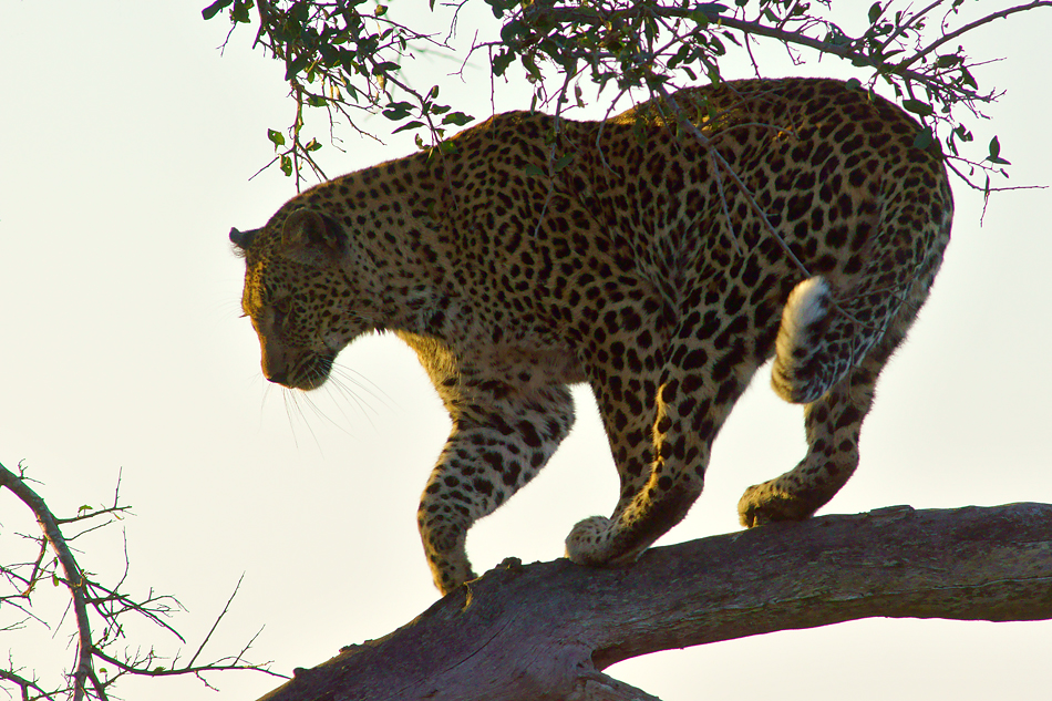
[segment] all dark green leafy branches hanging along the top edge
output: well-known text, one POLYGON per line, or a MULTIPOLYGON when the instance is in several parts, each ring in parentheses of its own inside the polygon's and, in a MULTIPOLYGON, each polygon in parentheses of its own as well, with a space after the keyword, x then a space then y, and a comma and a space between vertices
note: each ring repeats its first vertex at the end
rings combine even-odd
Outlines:
POLYGON ((355 116, 379 112, 394 122, 393 132, 416 131, 422 148, 441 144, 446 130, 473 120, 439 101, 440 85, 413 87, 421 70, 413 59, 421 55, 445 53, 463 63, 484 54, 495 79, 514 70, 533 85, 530 109, 558 113, 584 104, 582 83, 592 84, 597 94, 606 91, 604 100, 612 103, 627 91, 661 95, 675 85, 719 81, 720 62, 732 48, 745 52, 755 74, 763 75, 754 49, 774 41, 794 62, 802 63, 809 51, 836 56, 857 69, 859 84, 889 86, 924 124, 918 145, 938 140, 966 181, 977 169, 986 173, 989 192, 990 173, 1004 174, 1001 166, 1008 165, 997 137, 981 158, 965 157, 961 147, 973 141, 968 124, 982 117, 982 106, 999 94, 980 89, 972 72, 980 62, 958 40, 996 19, 1052 6, 1039 0, 962 23, 963 6, 974 7, 976 0, 922 7, 887 0, 858 6, 865 30, 853 35, 829 19, 832 0, 482 1, 497 32, 492 40, 476 35, 464 48, 454 45, 457 20, 479 0, 400 8, 413 18, 410 22, 368 0, 215 0, 202 14, 207 20, 225 12, 231 32, 238 25, 255 28, 255 45, 283 63, 296 116, 287 130, 270 130, 268 136, 277 153, 272 163, 295 174, 297 185, 305 165, 324 176, 312 157, 321 144, 303 137, 305 107, 327 111, 332 128, 342 118, 363 134, 355 116), (443 12, 444 33, 425 29, 443 12))

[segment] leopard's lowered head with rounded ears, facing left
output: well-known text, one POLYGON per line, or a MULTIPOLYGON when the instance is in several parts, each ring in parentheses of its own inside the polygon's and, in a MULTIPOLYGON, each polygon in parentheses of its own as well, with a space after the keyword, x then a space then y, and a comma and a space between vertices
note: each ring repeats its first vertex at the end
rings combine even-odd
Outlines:
POLYGON ((316 209, 282 208, 261 229, 230 229, 230 241, 245 257, 241 309, 259 336, 264 377, 320 386, 337 353, 374 328, 355 313, 362 295, 348 275, 343 227, 316 209))

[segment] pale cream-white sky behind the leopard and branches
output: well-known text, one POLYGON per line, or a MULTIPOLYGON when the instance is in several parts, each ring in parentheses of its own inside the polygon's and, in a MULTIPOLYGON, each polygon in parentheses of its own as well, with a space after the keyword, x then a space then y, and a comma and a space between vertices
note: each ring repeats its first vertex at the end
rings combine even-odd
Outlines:
MULTIPOLYGON (((220 55, 227 24, 203 21, 204 4, 0 0, 0 462, 13 470, 24 460, 60 515, 107 504, 123 470, 122 499, 135 515, 78 540, 81 565, 114 583, 126 538, 126 590, 153 587, 188 609, 172 620, 189 641, 184 658, 244 574, 203 658, 236 652, 262 627, 249 659, 290 673, 390 632, 436 599, 415 508, 448 422, 393 338, 343 352, 351 379, 342 390, 297 396, 262 379, 255 334, 239 318, 243 261, 226 235, 262 225, 295 194, 277 171, 248 179, 271 156, 266 130, 283 128, 292 105, 283 69, 249 50, 251 30, 220 55)), ((857 3, 859 18, 868 6, 857 3)), ((966 39, 976 58, 1004 58, 976 70, 983 87, 1008 92, 973 131, 982 143, 999 135, 1014 185, 1052 184, 1049 37, 1052 10, 1039 9, 966 39)), ((797 69, 772 59, 770 74, 852 75, 806 58, 797 69)), ((485 66, 468 66, 465 79, 460 90, 448 80, 443 97, 486 116, 485 66)), ((527 105, 518 87, 498 92, 498 110, 527 105)), ((369 126, 383 134, 389 123, 369 126)), ((330 175, 412 150, 408 138, 377 144, 347 130, 340 153, 318 135, 330 175)), ((1052 192, 997 195, 981 227, 980 196, 960 182, 955 192, 943 271, 883 377, 862 466, 823 513, 1052 502, 1052 192)), ((545 473, 471 532, 477 570, 512 555, 559 557, 577 520, 612 508, 606 440, 587 391, 577 398, 577 427, 545 473)), ((738 529, 742 491, 803 455, 800 414, 761 371, 716 442, 704 495, 662 543, 738 529)), ((12 534, 33 528, 0 494, 4 561, 32 557, 12 534)), ((42 610, 59 594, 42 590, 42 610)), ((10 650, 47 681, 72 661, 68 635, 0 632, 0 659, 10 650)), ((608 672, 664 701, 1027 699, 1048 690, 1050 636, 1050 622, 875 619, 658 653, 608 672)), ((130 643, 181 649, 149 627, 130 643)), ((209 679, 229 699, 279 683, 249 672, 209 679)), ((128 699, 216 698, 193 679, 117 689, 128 699)))

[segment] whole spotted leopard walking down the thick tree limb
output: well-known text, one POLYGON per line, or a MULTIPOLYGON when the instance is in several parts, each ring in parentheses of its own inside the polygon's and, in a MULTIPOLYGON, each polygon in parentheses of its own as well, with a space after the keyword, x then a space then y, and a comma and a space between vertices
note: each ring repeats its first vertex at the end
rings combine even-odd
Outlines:
POLYGON ((630 566, 683 519, 772 358, 807 450, 738 511, 745 527, 807 518, 855 472, 877 378, 949 243, 925 133, 832 79, 669 90, 597 121, 496 114, 230 230, 262 375, 313 390, 373 331, 415 351, 452 423, 417 511, 443 595, 476 577, 468 528, 570 432, 576 384, 620 491, 571 529, 574 563, 630 566))

